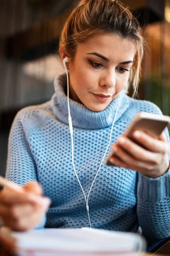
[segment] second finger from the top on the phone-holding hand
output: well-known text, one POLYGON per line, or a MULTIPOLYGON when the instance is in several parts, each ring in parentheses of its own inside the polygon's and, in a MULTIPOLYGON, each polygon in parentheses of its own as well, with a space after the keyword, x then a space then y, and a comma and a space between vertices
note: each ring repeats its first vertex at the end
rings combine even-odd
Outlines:
POLYGON ((159 154, 150 152, 141 146, 137 145, 136 143, 132 142, 127 137, 119 137, 117 139, 118 145, 122 147, 125 151, 127 151, 132 157, 136 160, 143 161, 143 162, 151 162, 153 164, 158 163, 159 154))

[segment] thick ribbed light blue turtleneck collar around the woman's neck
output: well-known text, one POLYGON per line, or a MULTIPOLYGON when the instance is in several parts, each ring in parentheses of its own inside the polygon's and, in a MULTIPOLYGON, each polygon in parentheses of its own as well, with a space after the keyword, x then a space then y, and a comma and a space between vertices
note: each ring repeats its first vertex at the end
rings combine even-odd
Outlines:
MULTIPOLYGON (((52 109, 55 116, 60 122, 68 125, 68 105, 65 90, 67 89, 66 74, 58 76, 54 81, 55 93, 52 97, 52 109)), ((113 119, 118 107, 118 102, 121 99, 120 94, 103 111, 95 112, 86 108, 78 102, 69 99, 70 113, 73 127, 82 129, 101 129, 112 125, 113 119)), ((122 116, 130 105, 130 97, 124 90, 122 91, 122 99, 119 104, 119 109, 116 115, 115 122, 122 116)))

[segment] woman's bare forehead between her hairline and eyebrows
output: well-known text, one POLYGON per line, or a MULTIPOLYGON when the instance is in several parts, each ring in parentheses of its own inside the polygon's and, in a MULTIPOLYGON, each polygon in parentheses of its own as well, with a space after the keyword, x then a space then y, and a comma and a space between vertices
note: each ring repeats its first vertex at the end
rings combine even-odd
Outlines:
POLYGON ((111 61, 132 61, 136 47, 130 39, 122 39, 118 35, 101 32, 78 44, 76 55, 85 55, 90 52, 98 52, 111 61))

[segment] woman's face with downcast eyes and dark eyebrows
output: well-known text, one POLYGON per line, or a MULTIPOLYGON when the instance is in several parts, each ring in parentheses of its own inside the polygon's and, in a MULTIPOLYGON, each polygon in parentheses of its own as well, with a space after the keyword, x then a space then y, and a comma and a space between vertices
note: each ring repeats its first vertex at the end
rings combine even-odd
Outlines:
POLYGON ((102 111, 128 83, 135 44, 109 33, 98 33, 77 46, 68 64, 70 98, 92 111, 102 111))

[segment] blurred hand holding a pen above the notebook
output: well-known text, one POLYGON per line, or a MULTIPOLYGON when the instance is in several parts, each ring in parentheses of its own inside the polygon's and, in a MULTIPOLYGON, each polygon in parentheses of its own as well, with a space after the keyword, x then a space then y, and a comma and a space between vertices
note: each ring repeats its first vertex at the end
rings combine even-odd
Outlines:
POLYGON ((29 182, 22 192, 5 188, 0 192, 0 217, 12 230, 26 231, 36 227, 47 211, 50 200, 42 196, 37 182, 29 182))

